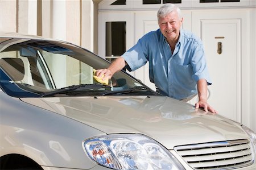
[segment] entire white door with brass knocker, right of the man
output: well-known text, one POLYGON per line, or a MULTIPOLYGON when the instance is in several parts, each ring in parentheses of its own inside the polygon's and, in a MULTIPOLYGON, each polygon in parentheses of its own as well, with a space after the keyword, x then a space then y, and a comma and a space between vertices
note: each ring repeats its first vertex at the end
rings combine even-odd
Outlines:
POLYGON ((250 126, 248 89, 249 22, 246 10, 200 10, 192 12, 192 32, 205 47, 213 84, 208 102, 220 115, 250 126), (243 30, 243 31, 242 31, 243 30), (221 43, 222 52, 217 53, 221 43), (243 43, 242 43, 243 42, 243 43))

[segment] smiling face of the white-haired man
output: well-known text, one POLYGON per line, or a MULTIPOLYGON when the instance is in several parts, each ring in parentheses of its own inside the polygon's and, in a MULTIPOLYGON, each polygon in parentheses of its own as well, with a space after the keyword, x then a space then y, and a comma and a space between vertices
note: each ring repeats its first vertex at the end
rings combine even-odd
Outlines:
POLYGON ((183 18, 179 18, 177 11, 172 11, 164 18, 159 17, 158 24, 162 34, 168 42, 176 42, 179 39, 183 18))

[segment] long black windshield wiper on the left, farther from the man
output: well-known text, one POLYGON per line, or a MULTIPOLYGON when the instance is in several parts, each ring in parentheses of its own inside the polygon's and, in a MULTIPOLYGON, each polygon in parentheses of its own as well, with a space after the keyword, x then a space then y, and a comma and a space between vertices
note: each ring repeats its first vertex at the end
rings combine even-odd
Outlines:
POLYGON ((62 93, 67 93, 67 92, 73 92, 75 90, 98 90, 101 88, 111 88, 110 86, 107 85, 102 85, 102 84, 80 84, 80 85, 72 85, 72 86, 67 86, 65 88, 57 89, 52 92, 44 92, 40 94, 40 97, 47 97, 47 96, 54 96, 55 94, 62 94, 62 93))

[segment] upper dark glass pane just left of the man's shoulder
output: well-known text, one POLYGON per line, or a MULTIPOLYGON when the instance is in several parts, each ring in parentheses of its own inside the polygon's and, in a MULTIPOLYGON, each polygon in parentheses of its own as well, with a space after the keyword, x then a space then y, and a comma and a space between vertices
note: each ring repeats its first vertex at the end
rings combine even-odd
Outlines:
POLYGON ((106 22, 106 56, 121 56, 126 51, 126 22, 106 22))

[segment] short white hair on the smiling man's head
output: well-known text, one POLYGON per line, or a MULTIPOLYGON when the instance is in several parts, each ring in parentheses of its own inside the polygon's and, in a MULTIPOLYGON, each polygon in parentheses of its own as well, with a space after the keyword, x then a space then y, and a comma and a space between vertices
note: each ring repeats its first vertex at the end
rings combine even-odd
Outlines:
POLYGON ((179 9, 179 7, 176 7, 172 3, 166 3, 165 5, 161 6, 160 9, 158 10, 158 20, 159 18, 164 18, 167 14, 171 13, 172 11, 177 11, 179 19, 182 18, 181 10, 179 9))

